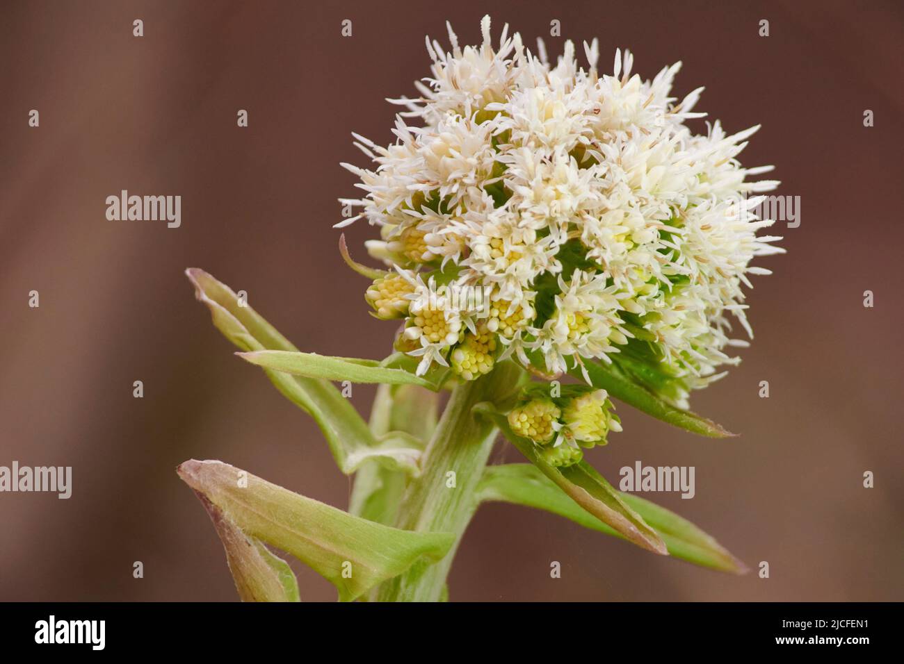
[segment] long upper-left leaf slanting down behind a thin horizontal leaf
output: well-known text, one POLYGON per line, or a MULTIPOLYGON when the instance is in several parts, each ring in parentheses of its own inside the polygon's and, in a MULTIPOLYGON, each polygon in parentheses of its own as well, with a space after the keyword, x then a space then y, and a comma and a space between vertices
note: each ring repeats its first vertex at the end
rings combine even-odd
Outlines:
MULTIPOLYGON (((185 274, 194 285, 195 297, 210 309, 213 324, 241 350, 297 352, 297 348, 254 309, 240 306, 238 295, 228 286, 194 267, 187 269, 185 274)), ((348 462, 350 455, 360 456, 363 448, 381 444, 358 411, 329 380, 264 370, 284 397, 314 417, 343 472, 353 472, 356 467, 348 462)), ((398 466, 398 459, 391 456, 377 458, 393 467, 398 466)))

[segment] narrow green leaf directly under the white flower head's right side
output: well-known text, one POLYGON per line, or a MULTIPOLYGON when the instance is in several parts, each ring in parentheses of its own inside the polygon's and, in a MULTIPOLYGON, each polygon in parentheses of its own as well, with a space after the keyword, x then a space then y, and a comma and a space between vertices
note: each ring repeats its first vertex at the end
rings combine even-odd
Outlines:
MULTIPOLYGON (((717 425, 712 420, 681 410, 669 405, 663 398, 657 397, 649 389, 629 379, 625 372, 614 364, 603 364, 593 360, 584 360, 584 367, 590 383, 595 388, 605 389, 610 397, 624 401, 628 406, 636 407, 647 415, 654 416, 672 426, 677 426, 692 434, 700 434, 711 438, 727 438, 733 436, 730 431, 717 425)), ((583 380, 580 367, 570 369, 569 373, 583 380)))

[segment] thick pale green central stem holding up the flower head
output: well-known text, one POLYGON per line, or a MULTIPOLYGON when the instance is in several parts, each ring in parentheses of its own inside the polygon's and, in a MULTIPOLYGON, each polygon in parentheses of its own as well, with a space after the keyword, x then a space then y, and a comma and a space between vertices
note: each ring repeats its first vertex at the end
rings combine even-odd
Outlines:
POLYGON ((438 563, 417 563, 386 582, 380 590, 381 602, 437 602, 443 597, 458 544, 477 508, 477 484, 498 433, 492 423, 476 419, 472 408, 509 394, 522 373, 511 362, 504 362, 488 375, 453 390, 428 444, 421 475, 402 499, 396 525, 450 532, 456 543, 438 563))

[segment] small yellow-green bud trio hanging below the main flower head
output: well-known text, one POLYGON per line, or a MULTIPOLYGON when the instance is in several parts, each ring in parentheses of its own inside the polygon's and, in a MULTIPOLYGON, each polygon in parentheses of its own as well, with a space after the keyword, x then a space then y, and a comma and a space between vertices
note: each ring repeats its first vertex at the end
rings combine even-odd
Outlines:
POLYGON ((618 416, 605 389, 567 386, 564 397, 546 397, 537 387, 508 414, 515 435, 538 446, 541 458, 554 466, 578 463, 581 447, 605 445, 609 431, 621 431, 618 416))

